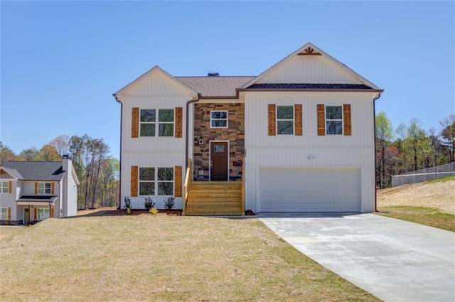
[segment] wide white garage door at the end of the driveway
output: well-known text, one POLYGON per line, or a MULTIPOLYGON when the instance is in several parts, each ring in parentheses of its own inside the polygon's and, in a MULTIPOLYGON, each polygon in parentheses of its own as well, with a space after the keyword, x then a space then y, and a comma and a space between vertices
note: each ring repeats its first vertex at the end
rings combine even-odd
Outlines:
POLYGON ((360 212, 360 168, 261 168, 260 212, 360 212))

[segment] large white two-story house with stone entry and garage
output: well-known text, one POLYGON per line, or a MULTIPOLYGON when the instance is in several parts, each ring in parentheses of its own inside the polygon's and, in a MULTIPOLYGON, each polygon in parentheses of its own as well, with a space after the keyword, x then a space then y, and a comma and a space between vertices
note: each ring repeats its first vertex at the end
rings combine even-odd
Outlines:
POLYGON ((371 212, 382 91, 311 43, 256 77, 173 77, 156 66, 114 94, 121 205, 151 197, 163 207, 173 195, 191 215, 371 212), (236 180, 243 193, 230 191, 236 180), (210 195, 217 183, 228 187, 210 195), (223 212, 240 195, 240 208, 223 212), (215 209, 201 210, 208 203, 215 209))

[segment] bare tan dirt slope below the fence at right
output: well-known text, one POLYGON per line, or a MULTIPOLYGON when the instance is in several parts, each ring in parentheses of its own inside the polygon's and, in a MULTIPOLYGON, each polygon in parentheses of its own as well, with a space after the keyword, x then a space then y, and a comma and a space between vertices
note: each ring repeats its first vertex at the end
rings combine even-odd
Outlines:
POLYGON ((378 190, 378 209, 390 206, 432 207, 455 215, 455 180, 414 183, 378 190))

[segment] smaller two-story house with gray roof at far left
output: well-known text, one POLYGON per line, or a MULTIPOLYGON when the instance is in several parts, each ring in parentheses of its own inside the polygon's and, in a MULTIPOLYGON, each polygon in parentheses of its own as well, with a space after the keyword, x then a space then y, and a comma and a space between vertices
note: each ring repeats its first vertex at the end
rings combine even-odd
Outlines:
POLYGON ((79 180, 62 161, 5 161, 0 167, 0 220, 28 224, 77 215, 79 180))

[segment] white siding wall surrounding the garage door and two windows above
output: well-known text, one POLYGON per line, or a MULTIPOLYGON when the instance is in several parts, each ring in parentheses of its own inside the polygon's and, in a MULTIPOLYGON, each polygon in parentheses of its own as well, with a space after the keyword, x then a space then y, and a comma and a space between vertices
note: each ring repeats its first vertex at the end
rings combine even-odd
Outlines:
POLYGON ((245 94, 246 210, 259 211, 259 169, 360 168, 361 212, 374 210, 373 94, 252 92, 245 94), (303 136, 268 136, 268 104, 302 104, 303 136), (317 136, 316 104, 350 104, 352 136, 317 136))

